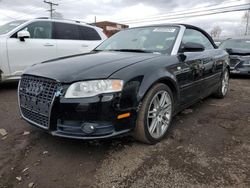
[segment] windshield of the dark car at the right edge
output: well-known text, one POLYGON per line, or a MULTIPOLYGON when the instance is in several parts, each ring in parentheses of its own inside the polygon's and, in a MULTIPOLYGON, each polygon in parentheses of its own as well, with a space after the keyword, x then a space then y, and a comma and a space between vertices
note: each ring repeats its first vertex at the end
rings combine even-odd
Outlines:
POLYGON ((243 49, 250 49, 250 39, 229 39, 224 41, 220 48, 243 48, 243 49))

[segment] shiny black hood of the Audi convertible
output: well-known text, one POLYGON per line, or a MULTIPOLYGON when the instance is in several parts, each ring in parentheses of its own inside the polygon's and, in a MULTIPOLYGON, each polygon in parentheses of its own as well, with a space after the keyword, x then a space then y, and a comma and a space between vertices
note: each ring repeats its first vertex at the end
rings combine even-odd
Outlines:
POLYGON ((105 79, 124 67, 157 56, 152 53, 92 52, 36 64, 24 74, 51 78, 62 83, 105 79))

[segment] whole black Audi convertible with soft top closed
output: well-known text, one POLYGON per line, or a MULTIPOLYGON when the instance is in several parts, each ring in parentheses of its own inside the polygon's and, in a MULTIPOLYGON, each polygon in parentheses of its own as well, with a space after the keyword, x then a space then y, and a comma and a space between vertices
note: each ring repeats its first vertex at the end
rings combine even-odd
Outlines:
POLYGON ((211 94, 227 94, 228 61, 228 53, 194 26, 124 30, 91 53, 29 68, 19 83, 21 116, 55 136, 132 134, 155 143, 176 113, 211 94))

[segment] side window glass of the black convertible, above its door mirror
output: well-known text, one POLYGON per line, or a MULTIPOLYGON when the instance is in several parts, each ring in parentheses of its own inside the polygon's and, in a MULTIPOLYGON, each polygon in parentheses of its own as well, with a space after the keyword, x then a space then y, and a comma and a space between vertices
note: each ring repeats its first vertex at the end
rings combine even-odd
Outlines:
POLYGON ((210 40, 200 31, 194 29, 186 29, 182 39, 182 43, 185 44, 187 42, 195 42, 202 44, 206 50, 214 49, 214 46, 212 45, 210 40))

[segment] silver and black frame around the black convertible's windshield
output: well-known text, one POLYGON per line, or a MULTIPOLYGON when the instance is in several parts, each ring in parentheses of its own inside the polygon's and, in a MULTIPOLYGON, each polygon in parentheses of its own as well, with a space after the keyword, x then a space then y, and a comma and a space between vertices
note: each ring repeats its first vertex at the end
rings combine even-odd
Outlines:
MULTIPOLYGON (((147 29, 147 28, 176 28, 177 32, 175 35, 175 38, 173 40, 173 43, 171 44, 171 46, 169 47, 168 51, 150 51, 147 49, 143 49, 143 48, 138 48, 138 49, 131 49, 131 52, 136 52, 137 53, 156 53, 156 54, 167 54, 167 55, 173 55, 173 51, 176 51, 176 42, 179 40, 180 38, 180 33, 183 33, 183 29, 184 27, 181 25, 152 25, 152 26, 141 26, 141 27, 134 27, 134 28, 128 28, 128 29, 124 29, 120 32, 126 32, 126 31, 130 31, 130 30, 135 30, 135 29, 147 29)), ((110 50, 103 50, 100 49, 100 46, 104 45, 104 43, 106 43, 107 41, 111 40, 113 37, 119 35, 119 33, 116 33, 115 35, 111 36, 110 38, 106 39, 104 42, 102 42, 100 45, 98 45, 93 51, 123 51, 123 52, 129 52, 129 49, 110 49, 110 50)), ((107 45, 108 46, 108 45, 107 45)), ((107 47, 106 46, 106 47, 107 47)))

